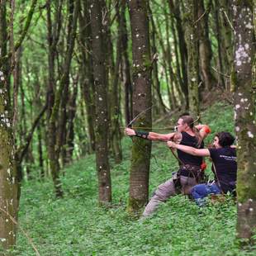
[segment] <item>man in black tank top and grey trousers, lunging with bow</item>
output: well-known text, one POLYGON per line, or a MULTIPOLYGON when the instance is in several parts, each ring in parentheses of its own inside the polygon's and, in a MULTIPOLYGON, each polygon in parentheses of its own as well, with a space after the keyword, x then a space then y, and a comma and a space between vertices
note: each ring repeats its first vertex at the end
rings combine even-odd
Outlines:
MULTIPOLYGON (((199 125, 194 126, 192 116, 180 116, 177 122, 177 132, 168 134, 159 134, 155 132, 147 132, 140 130, 133 130, 126 128, 126 135, 137 136, 145 140, 173 140, 180 145, 188 145, 193 148, 202 149, 204 144, 203 140, 206 138, 211 130, 208 126, 199 125)), ((178 151, 178 172, 173 174, 173 177, 168 179, 155 190, 153 197, 151 197, 148 205, 142 216, 151 215, 160 203, 166 201, 169 197, 183 192, 183 194, 190 194, 192 187, 200 183, 201 173, 203 169, 203 158, 201 156, 194 156, 178 151)))

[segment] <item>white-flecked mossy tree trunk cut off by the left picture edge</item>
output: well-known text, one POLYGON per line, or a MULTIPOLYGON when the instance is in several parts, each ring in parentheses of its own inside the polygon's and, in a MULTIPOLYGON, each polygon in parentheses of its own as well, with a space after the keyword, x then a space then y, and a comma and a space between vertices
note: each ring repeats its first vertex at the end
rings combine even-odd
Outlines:
MULTIPOLYGON (((7 2, 0 4, 1 57, 7 54, 7 2)), ((0 61, 0 248, 8 249, 16 242, 18 210, 17 168, 12 133, 12 109, 9 105, 10 69, 0 61)))

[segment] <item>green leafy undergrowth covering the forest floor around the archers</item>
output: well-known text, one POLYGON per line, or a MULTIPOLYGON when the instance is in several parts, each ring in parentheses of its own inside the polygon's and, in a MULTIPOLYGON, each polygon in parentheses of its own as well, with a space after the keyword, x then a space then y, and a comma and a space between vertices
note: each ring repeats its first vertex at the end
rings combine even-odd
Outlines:
MULTIPOLYGON (((211 142, 216 131, 233 133, 233 111, 217 103, 202 113, 211 126, 211 142)), ((108 209, 97 204, 95 159, 88 155, 64 169, 64 199, 56 200, 49 179, 26 181, 21 188, 19 223, 32 239, 40 255, 255 255, 256 248, 239 251, 235 242, 236 206, 225 202, 203 208, 177 196, 163 204, 144 221, 126 212, 129 196, 130 138, 124 138, 124 160, 111 161, 112 198, 108 209)), ((154 142, 150 167, 149 194, 177 170, 178 163, 164 143, 154 142)), ((211 164, 207 172, 211 173, 211 164)), ((36 255, 30 239, 18 231, 13 255, 36 255)), ((8 255, 8 254, 7 254, 8 255)))

